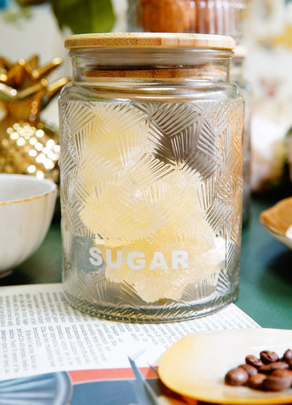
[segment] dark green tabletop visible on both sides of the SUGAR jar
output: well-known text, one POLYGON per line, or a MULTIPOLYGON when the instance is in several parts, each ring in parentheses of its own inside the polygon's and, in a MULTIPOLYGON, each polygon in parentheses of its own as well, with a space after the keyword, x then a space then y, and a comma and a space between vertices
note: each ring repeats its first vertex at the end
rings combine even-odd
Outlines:
MULTIPOLYGON (((242 232, 240 291, 235 304, 265 328, 292 329, 292 251, 260 225, 259 215, 291 188, 253 196, 251 220, 242 232)), ((29 259, 0 279, 0 286, 62 281, 60 218, 29 259)))

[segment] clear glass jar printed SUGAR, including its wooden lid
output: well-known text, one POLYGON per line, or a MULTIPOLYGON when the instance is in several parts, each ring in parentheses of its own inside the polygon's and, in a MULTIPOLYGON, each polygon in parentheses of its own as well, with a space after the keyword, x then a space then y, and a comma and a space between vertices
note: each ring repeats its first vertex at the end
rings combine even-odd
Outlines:
POLYGON ((81 34, 60 95, 63 285, 106 319, 175 321, 239 291, 244 101, 234 40, 81 34))

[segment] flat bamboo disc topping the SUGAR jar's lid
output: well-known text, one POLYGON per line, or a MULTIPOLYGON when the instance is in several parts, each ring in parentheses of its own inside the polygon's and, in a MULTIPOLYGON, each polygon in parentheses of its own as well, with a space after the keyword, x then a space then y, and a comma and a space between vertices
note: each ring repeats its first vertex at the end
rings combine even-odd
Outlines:
POLYGON ((65 48, 197 48, 233 51, 235 40, 227 35, 168 32, 106 32, 75 34, 65 39, 65 48))

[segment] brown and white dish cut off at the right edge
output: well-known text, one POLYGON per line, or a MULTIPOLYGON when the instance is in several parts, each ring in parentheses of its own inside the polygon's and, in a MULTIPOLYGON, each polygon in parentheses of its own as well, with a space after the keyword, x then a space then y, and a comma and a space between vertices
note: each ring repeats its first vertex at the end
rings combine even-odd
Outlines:
POLYGON ((263 211, 260 214, 260 222, 274 239, 292 249, 292 239, 287 236, 287 231, 291 230, 292 225, 292 197, 282 199, 263 211))

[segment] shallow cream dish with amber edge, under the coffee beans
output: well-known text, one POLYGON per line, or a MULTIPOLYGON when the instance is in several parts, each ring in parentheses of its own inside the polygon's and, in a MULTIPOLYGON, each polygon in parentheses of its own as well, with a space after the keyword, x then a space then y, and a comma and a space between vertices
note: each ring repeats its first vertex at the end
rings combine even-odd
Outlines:
POLYGON ((230 369, 248 354, 272 350, 281 357, 291 348, 292 331, 252 328, 194 332, 172 345, 161 358, 159 377, 174 392, 213 404, 276 405, 292 403, 292 388, 279 392, 226 385, 230 369))

